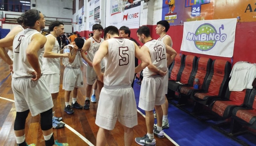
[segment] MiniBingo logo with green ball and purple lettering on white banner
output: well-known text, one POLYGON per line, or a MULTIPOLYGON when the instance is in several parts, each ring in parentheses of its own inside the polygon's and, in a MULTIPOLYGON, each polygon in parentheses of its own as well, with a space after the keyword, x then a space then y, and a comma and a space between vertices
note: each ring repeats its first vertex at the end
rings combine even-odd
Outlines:
POLYGON ((195 33, 188 32, 186 39, 195 42, 198 50, 208 51, 215 46, 217 41, 224 42, 227 39, 226 34, 221 34, 221 29, 224 30, 223 24, 219 28, 218 33, 211 24, 204 23, 196 29, 195 33))

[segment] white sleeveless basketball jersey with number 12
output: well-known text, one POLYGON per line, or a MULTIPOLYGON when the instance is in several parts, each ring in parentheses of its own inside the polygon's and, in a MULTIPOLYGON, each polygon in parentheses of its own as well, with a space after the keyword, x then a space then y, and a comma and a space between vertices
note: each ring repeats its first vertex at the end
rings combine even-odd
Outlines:
MULTIPOLYGON (((152 64, 155 65, 158 69, 162 71, 167 71, 167 58, 166 58, 166 47, 165 44, 161 41, 150 40, 144 44, 148 47, 152 64)), ((149 77, 155 74, 151 72, 148 67, 143 70, 143 77, 149 77)))

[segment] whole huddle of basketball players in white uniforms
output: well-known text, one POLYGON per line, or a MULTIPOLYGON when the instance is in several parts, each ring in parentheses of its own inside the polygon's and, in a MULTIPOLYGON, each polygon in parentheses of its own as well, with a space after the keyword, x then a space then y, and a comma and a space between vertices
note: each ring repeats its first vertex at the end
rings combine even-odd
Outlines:
POLYGON ((133 127, 138 125, 132 87, 135 74, 142 70, 144 78, 141 83, 139 108, 146 112, 148 133, 135 138, 135 142, 155 146, 154 134, 164 138, 163 129, 169 127, 166 110, 168 102, 166 105, 165 97, 168 66, 177 55, 172 49, 171 37, 166 35, 170 27, 167 21, 157 23, 156 33, 160 35, 158 40, 151 38, 147 26, 137 30, 143 46, 130 37, 131 31, 128 27, 123 26, 118 30, 115 26, 108 26, 103 29, 100 24, 94 24, 93 36, 86 41, 76 37, 64 47, 68 52, 60 50, 56 39, 64 32, 62 22, 51 22, 48 29, 50 34, 44 36, 40 33, 45 27, 44 15, 31 9, 21 15, 18 23, 19 26, 0 40, 0 57, 12 72, 12 91, 17 111, 14 132, 18 146, 28 145, 25 141, 25 122, 29 111, 32 116, 41 116, 40 123, 46 146, 68 146, 68 143, 54 140, 52 133, 52 128, 58 129, 65 125, 61 117, 55 116, 60 88, 60 58, 68 60, 62 84, 62 89, 65 90, 64 111, 67 114, 73 114, 73 109, 88 110, 91 102, 97 102, 95 90, 98 88, 100 96, 95 119, 95 124, 99 126, 97 146, 106 145, 108 130, 114 129, 117 119, 124 127, 125 145, 132 145, 133 127), (103 32, 104 38, 101 38, 103 32), (4 48, 9 49, 8 54, 4 48), (84 105, 76 100, 78 87, 84 86, 80 69, 83 65, 82 58, 87 62, 84 105), (138 60, 141 61, 140 64, 138 60), (157 119, 155 126, 154 109, 157 119))

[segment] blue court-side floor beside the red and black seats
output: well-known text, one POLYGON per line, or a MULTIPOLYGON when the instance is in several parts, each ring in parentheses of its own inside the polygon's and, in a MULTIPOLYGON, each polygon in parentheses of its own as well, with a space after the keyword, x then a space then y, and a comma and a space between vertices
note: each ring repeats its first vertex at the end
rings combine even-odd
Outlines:
MULTIPOLYGON (((139 103, 140 96, 140 85, 138 85, 137 80, 134 83, 134 93, 137 103, 139 103)), ((145 111, 138 108, 144 115, 145 111)), ((180 146, 240 146, 238 142, 232 140, 231 138, 221 134, 220 132, 214 130, 211 126, 216 124, 213 121, 202 122, 195 117, 189 115, 188 113, 180 110, 176 106, 169 104, 168 109, 168 120, 170 127, 164 129, 164 132, 170 136, 176 143, 180 146)), ((156 120, 155 120, 156 123, 156 120)), ((256 146, 256 137, 242 135, 238 137, 249 145, 256 146), (253 138, 254 137, 254 138, 253 138)))

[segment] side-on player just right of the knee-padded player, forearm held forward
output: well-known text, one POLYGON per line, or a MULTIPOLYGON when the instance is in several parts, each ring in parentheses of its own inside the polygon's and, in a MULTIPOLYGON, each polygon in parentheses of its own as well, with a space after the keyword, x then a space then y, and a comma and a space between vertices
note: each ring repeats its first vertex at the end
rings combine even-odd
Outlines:
POLYGON ((69 57, 69 53, 60 54, 60 52, 63 53, 63 50, 60 51, 60 46, 56 39, 57 36, 63 33, 64 24, 60 21, 52 21, 48 30, 50 31, 50 34, 46 35, 44 55, 42 58, 43 73, 52 95, 52 127, 59 129, 65 125, 60 122, 62 117, 55 117, 55 107, 60 90, 60 57, 69 57))

